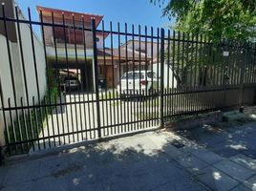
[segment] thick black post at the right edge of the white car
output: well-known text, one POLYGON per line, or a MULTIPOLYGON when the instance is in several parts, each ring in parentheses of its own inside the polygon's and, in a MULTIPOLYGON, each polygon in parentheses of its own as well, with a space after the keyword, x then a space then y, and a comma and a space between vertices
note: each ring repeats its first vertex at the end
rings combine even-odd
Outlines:
POLYGON ((164 29, 160 29, 160 127, 163 128, 164 29))

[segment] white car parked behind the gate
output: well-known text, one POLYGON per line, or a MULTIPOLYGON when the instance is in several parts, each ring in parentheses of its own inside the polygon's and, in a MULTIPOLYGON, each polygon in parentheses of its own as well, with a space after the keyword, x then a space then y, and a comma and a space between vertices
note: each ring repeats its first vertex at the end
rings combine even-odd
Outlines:
POLYGON ((120 96, 151 95, 157 90, 158 83, 160 81, 155 72, 132 71, 121 76, 117 91, 120 96))

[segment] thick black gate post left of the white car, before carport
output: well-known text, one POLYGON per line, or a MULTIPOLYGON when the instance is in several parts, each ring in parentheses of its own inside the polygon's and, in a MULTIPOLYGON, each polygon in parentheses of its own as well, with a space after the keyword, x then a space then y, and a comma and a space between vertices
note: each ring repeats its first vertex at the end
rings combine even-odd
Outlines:
POLYGON ((98 74, 97 74, 97 50, 96 50, 96 19, 92 19, 92 32, 93 32, 93 47, 94 47, 94 64, 95 64, 95 83, 96 83, 96 118, 97 118, 97 135, 101 138, 100 128, 100 111, 99 111, 99 96, 98 96, 98 74))

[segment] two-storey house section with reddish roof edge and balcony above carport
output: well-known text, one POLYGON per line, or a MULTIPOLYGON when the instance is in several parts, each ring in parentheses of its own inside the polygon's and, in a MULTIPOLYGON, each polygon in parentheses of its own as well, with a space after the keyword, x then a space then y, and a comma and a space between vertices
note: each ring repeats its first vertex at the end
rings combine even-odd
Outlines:
MULTIPOLYGON (((103 16, 39 6, 36 9, 42 23, 52 24, 41 29, 47 51, 47 64, 58 71, 76 71, 82 90, 93 91, 95 82, 91 20, 95 18, 97 27, 103 16)), ((103 40, 107 36, 108 33, 104 35, 102 32, 96 33, 98 48, 102 47, 103 40)))

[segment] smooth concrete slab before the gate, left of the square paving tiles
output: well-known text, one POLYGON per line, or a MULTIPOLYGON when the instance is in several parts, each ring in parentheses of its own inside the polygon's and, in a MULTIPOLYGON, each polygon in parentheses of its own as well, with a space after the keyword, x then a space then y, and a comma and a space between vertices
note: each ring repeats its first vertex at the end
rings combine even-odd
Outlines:
MULTIPOLYGON (((0 169, 2 190, 205 190, 175 160, 172 133, 145 133, 0 169)), ((33 157, 32 157, 33 158, 33 157)))

